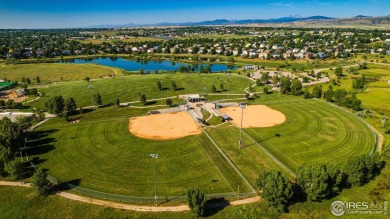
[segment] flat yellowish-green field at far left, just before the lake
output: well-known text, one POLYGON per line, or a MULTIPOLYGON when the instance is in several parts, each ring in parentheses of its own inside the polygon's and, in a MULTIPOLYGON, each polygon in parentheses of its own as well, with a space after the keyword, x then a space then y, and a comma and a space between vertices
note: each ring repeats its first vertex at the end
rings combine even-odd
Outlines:
POLYGON ((35 83, 39 76, 42 83, 61 81, 80 81, 85 77, 98 78, 100 76, 121 74, 121 70, 94 64, 9 64, 0 66, 1 77, 11 81, 21 82, 22 77, 30 78, 35 83), (62 80, 61 80, 62 78, 62 80))

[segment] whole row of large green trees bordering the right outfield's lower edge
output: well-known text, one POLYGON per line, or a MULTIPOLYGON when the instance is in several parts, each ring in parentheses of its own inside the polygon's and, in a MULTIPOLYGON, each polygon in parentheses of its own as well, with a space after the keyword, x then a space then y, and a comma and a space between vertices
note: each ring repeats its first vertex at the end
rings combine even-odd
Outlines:
POLYGON ((294 200, 320 202, 338 195, 344 188, 359 187, 380 173, 384 161, 378 154, 350 157, 345 164, 303 164, 295 182, 278 170, 263 171, 257 179, 261 196, 279 212, 294 200))

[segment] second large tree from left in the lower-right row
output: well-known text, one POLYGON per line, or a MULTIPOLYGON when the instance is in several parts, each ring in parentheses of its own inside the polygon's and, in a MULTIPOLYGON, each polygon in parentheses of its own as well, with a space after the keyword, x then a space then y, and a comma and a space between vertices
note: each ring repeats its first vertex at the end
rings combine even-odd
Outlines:
POLYGON ((297 183, 309 201, 321 201, 332 191, 331 179, 324 164, 303 164, 298 168, 297 183))

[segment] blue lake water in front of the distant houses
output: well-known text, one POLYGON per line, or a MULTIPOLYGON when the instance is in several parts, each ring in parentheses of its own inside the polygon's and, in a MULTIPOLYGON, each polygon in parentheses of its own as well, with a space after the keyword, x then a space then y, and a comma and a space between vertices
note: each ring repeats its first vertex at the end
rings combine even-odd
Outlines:
MULTIPOLYGON (((177 71, 180 66, 187 67, 187 63, 182 62, 172 62, 168 60, 161 60, 161 61, 144 61, 144 60, 128 60, 123 58, 96 58, 96 59, 72 59, 72 60, 65 60, 65 63, 75 63, 75 64, 86 64, 86 63, 96 63, 99 65, 106 65, 110 67, 117 67, 122 68, 126 71, 139 71, 141 68, 144 70, 144 72, 147 72, 148 70, 151 71, 151 73, 154 73, 155 70, 157 71, 177 71)), ((194 65, 195 71, 199 71, 201 64, 189 64, 194 65)), ((236 69, 237 66, 231 66, 227 64, 202 64, 203 68, 205 68, 207 65, 210 65, 212 72, 220 72, 220 71, 226 71, 226 70, 233 70, 236 69)))

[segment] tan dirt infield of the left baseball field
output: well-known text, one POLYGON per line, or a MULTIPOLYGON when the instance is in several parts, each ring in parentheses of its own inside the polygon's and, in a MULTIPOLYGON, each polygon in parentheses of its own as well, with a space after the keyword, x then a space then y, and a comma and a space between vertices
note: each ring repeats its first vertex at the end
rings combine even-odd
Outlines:
POLYGON ((173 140, 202 133, 187 112, 133 117, 130 118, 129 130, 137 137, 151 140, 173 140))

